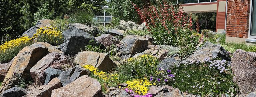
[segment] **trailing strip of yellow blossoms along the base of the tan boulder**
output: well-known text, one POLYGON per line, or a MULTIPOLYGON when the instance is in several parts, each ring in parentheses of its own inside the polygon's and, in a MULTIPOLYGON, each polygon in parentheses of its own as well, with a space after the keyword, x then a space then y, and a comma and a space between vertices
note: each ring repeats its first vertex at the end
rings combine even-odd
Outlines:
POLYGON ((92 65, 84 65, 82 66, 85 69, 88 69, 93 75, 97 76, 98 78, 113 81, 118 79, 118 74, 107 74, 105 72, 99 71, 97 68, 93 67, 92 65))

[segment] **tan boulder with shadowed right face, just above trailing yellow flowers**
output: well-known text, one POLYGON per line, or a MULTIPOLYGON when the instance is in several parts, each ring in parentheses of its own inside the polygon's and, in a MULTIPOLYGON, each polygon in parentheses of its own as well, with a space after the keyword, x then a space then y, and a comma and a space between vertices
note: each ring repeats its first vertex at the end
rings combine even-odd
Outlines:
POLYGON ((104 72, 111 71, 116 66, 107 54, 92 51, 79 52, 74 63, 80 66, 92 65, 104 72))

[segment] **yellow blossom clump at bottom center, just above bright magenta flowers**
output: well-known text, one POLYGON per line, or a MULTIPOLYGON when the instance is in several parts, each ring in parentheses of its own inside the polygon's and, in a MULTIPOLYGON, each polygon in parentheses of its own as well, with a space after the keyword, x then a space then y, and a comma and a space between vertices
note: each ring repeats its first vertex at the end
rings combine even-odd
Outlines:
POLYGON ((132 81, 126 81, 128 84, 127 88, 134 90, 139 95, 145 95, 148 92, 148 87, 152 85, 147 78, 144 79, 134 79, 132 81))

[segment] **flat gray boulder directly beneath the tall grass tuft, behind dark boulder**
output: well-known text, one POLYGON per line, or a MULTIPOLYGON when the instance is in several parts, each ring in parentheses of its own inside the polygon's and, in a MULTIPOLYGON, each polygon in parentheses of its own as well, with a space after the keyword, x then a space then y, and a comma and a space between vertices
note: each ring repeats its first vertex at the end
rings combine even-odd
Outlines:
POLYGON ((68 24, 68 26, 71 27, 75 27, 77 29, 83 30, 91 35, 93 35, 94 37, 97 35, 98 30, 96 28, 84 25, 84 24, 79 24, 79 23, 75 23, 75 24, 68 24))

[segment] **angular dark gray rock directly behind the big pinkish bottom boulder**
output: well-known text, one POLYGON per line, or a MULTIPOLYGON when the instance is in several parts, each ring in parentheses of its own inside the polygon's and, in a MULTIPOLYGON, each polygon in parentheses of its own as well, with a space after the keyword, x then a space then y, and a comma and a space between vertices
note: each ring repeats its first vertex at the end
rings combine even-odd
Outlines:
POLYGON ((81 66, 76 66, 72 69, 62 72, 58 78, 60 79, 62 85, 66 86, 67 84, 75 81, 78 77, 86 74, 89 74, 88 70, 82 68, 81 66))

